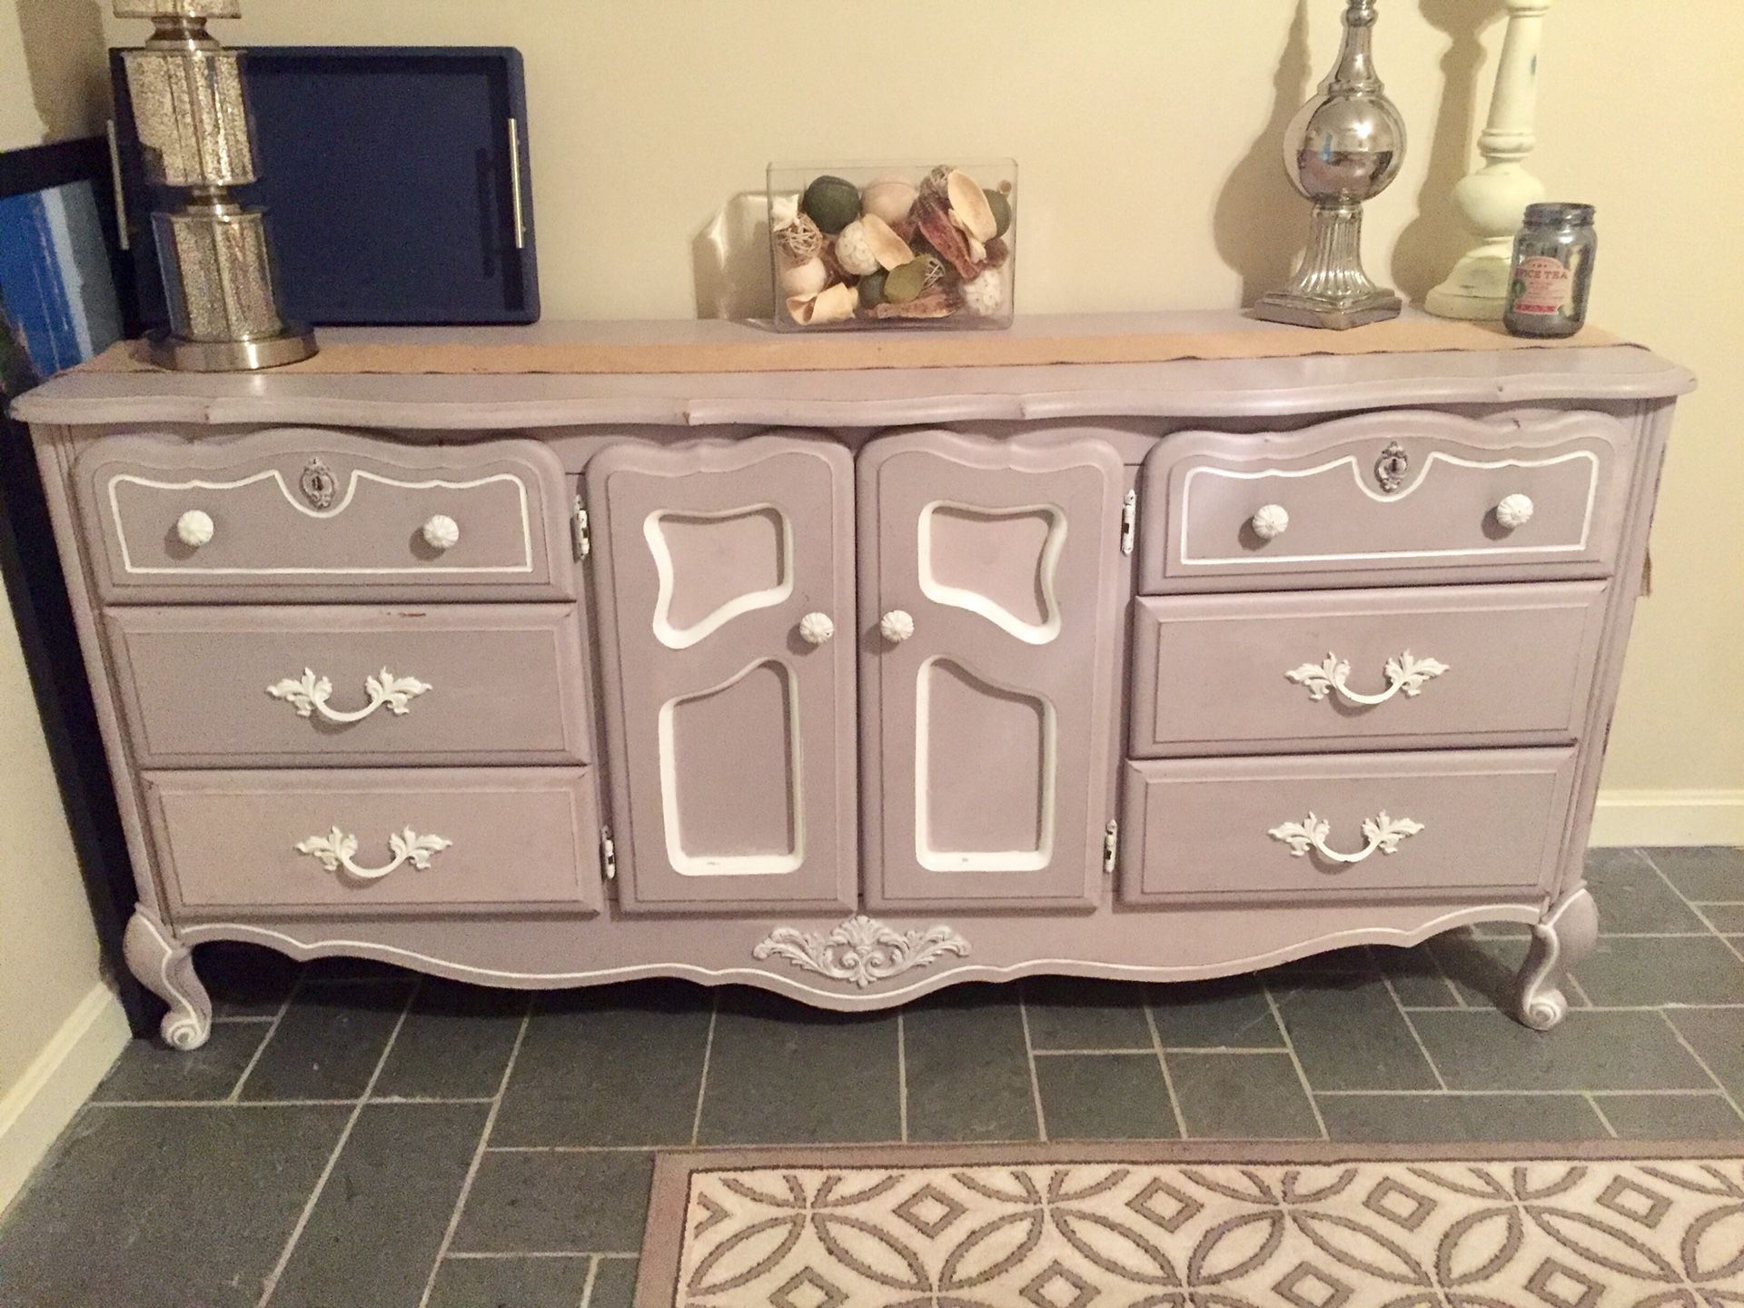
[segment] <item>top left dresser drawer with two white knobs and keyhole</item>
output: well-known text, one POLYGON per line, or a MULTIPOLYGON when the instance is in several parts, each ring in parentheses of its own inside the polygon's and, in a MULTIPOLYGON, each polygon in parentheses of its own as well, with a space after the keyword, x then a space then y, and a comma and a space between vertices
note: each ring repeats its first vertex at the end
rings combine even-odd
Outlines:
POLYGON ((576 593, 569 480, 535 441, 112 436, 73 481, 115 603, 576 593))

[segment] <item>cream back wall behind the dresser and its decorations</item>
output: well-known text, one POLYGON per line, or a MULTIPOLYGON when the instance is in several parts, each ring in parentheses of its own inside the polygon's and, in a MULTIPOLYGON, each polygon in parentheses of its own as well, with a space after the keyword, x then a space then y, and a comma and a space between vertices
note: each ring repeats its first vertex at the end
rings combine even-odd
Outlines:
MULTIPOLYGON (((527 61, 549 317, 680 317, 720 300, 705 235, 769 159, 1022 166, 1020 309, 1235 305, 1289 270, 1303 209, 1284 122, 1327 70, 1336 0, 249 0, 235 42, 502 44, 527 61), (698 284, 703 290, 698 290, 698 284)), ((1498 0, 1386 0, 1378 61, 1413 143, 1369 251, 1421 296, 1460 235, 1498 0)), ((117 44, 143 24, 106 21, 117 44)), ((1594 312, 1702 377, 1678 427, 1608 792, 1706 800, 1744 841, 1744 555, 1714 549, 1744 485, 1744 5, 1561 0, 1535 167, 1599 206, 1594 312), (1714 237, 1709 232, 1716 234, 1714 237), (1718 807, 1714 807, 1718 806, 1718 807)), ((731 225, 729 225, 731 227, 731 225)), ((750 260, 760 274, 760 256, 750 260)), ((741 296, 729 296, 741 302, 741 296)), ((1657 839, 1702 835, 1693 827, 1657 839)), ((1611 825, 1625 839, 1648 839, 1611 825)), ((1725 834, 1730 830, 1732 834, 1725 834)), ((1603 823, 1601 823, 1603 834, 1603 823)))

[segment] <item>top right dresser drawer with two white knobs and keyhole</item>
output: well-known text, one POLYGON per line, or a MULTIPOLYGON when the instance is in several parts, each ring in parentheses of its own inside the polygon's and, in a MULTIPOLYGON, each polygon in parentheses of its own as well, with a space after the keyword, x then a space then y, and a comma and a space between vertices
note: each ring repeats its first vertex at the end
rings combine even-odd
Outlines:
POLYGON ((1632 457, 1606 413, 1181 433, 1144 460, 1141 589, 1606 577, 1632 457))

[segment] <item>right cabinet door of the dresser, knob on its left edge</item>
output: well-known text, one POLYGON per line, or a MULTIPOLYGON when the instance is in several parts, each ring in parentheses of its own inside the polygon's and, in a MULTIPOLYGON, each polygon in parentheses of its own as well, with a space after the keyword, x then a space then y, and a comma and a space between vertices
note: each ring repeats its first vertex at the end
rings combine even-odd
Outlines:
POLYGON ((874 907, 1083 907, 1111 816, 1125 469, 919 433, 860 457, 874 907))

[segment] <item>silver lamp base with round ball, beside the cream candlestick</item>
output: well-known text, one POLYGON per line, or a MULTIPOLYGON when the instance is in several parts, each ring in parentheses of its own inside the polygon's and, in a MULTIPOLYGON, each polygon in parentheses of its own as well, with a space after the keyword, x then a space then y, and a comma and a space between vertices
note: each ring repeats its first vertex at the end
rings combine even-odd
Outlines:
POLYGON ((1284 134, 1284 169, 1313 201, 1313 225, 1296 276, 1254 305, 1266 321, 1343 331, 1402 309, 1362 270, 1362 204, 1392 185, 1406 153, 1404 119, 1374 75, 1374 0, 1346 0, 1338 66, 1284 134))

